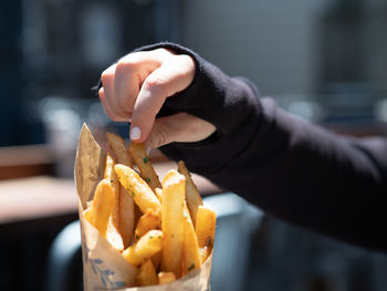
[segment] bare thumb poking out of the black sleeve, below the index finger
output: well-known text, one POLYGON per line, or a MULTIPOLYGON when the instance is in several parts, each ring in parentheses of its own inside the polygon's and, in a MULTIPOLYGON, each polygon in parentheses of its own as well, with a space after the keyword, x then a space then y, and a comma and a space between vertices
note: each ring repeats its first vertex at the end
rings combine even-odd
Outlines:
POLYGON ((151 149, 174 142, 199 142, 215 131, 216 127, 209 122, 188 113, 177 113, 155 121, 145 146, 151 149))

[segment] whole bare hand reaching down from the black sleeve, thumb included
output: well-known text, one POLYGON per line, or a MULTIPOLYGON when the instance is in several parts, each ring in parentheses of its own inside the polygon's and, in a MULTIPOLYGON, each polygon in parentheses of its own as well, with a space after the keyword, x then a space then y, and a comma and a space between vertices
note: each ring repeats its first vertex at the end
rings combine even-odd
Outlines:
POLYGON ((187 89, 195 77, 195 62, 166 49, 135 52, 107 67, 98 91, 106 114, 116 122, 132 122, 130 139, 155 148, 171 142, 198 142, 216 127, 196 116, 178 113, 156 119, 167 97, 187 89))

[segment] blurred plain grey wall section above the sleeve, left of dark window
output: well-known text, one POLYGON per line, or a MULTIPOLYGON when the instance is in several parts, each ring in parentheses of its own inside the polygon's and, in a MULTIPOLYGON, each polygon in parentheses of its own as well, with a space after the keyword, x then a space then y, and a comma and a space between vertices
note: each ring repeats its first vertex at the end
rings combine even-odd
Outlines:
POLYGON ((184 41, 263 94, 313 92, 324 0, 185 1, 184 41))

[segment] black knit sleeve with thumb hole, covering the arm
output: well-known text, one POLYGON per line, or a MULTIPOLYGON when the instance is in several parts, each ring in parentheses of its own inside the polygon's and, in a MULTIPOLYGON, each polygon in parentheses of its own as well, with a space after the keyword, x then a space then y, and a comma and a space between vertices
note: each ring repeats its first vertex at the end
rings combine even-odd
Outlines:
POLYGON ((191 55, 197 66, 161 114, 185 111, 217 127, 206 141, 163 146, 168 157, 293 225, 387 249, 386 138, 343 137, 303 122, 177 44, 140 50, 159 46, 191 55))

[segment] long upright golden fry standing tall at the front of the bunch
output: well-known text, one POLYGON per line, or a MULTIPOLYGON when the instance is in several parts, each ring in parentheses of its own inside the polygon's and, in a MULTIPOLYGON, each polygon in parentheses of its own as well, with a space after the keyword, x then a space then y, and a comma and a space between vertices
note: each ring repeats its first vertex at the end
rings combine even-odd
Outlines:
POLYGON ((169 170, 163 180, 161 229, 164 232, 161 266, 180 277, 186 178, 169 170))

